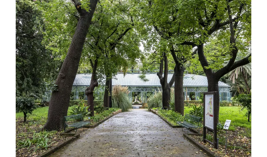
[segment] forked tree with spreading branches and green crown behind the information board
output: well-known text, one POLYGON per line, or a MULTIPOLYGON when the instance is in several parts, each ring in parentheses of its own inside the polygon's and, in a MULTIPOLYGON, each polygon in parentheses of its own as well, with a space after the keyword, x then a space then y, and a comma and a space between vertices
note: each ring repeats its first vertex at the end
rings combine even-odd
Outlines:
MULTIPOLYGON (((235 62, 238 50, 244 50, 244 44, 251 38, 251 3, 249 1, 241 3, 239 1, 216 3, 200 1, 198 8, 194 9, 197 13, 194 25, 197 27, 193 30, 193 35, 189 35, 182 44, 198 47, 199 61, 208 79, 208 91, 216 91, 218 93, 216 100, 219 102, 220 78, 235 68, 248 64, 251 57, 250 54, 235 62), (214 58, 215 61, 208 62, 207 56, 214 58), (222 63, 226 60, 228 63, 223 66, 222 63)), ((219 117, 219 107, 215 112, 219 117)))

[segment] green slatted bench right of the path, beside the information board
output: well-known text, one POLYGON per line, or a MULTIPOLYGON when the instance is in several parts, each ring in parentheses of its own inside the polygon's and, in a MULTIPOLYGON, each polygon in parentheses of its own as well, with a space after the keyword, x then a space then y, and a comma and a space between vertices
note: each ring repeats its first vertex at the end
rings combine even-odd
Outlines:
POLYGON ((202 120, 201 117, 185 114, 184 121, 183 122, 176 122, 176 125, 177 124, 181 125, 182 131, 183 131, 183 127, 187 128, 187 133, 188 133, 189 128, 198 128, 199 127, 199 129, 200 129, 201 120, 202 120))

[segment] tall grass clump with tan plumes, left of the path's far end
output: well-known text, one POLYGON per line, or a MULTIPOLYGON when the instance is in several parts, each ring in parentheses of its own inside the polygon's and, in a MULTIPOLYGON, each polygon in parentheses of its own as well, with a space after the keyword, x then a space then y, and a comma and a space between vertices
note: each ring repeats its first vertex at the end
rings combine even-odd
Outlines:
POLYGON ((122 111, 129 111, 132 108, 132 104, 129 101, 129 90, 128 87, 122 87, 116 85, 112 89, 112 107, 120 108, 122 111))

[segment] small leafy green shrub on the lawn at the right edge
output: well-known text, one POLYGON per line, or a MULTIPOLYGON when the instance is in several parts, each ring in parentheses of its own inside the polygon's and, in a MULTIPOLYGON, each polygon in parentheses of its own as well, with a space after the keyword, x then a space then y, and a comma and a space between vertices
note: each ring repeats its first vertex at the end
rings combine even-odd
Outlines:
POLYGON ((250 94, 239 94, 234 97, 235 101, 238 101, 242 105, 242 109, 247 109, 246 115, 248 116, 248 122, 251 114, 251 93, 250 94))

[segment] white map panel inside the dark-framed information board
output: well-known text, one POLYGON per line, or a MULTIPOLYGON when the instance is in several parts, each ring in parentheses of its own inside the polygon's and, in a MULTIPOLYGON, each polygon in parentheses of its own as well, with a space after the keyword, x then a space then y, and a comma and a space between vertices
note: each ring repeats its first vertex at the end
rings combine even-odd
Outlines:
POLYGON ((205 126, 213 129, 213 95, 205 95, 205 126))

